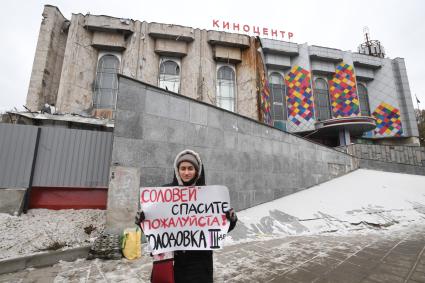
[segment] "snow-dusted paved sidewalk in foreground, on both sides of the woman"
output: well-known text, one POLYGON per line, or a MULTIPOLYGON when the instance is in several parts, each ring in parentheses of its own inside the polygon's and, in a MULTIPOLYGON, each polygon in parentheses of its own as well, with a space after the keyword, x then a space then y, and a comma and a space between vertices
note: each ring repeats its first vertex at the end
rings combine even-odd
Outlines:
MULTIPOLYGON (((148 282, 151 260, 77 260, 0 282, 148 282)), ((425 282, 425 225, 263 239, 215 252, 215 282, 425 282)))

